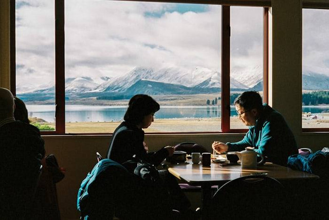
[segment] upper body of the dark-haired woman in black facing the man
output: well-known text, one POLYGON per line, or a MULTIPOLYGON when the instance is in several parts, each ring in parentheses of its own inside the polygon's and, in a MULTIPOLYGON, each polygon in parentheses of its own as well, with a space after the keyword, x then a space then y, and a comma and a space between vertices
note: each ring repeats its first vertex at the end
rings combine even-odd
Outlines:
POLYGON ((122 164, 133 155, 155 166, 159 165, 167 156, 174 153, 171 146, 163 147, 157 152, 148 153, 144 142, 144 131, 154 122, 154 114, 160 105, 149 95, 133 96, 124 114, 124 122, 114 131, 107 158, 122 164))

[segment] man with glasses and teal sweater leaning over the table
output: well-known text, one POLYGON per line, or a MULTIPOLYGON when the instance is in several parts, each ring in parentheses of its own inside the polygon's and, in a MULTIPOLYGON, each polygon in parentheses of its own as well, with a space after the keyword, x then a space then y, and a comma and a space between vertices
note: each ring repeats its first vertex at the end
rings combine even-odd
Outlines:
POLYGON ((287 166, 290 155, 297 154, 298 148, 283 116, 267 104, 262 104, 258 92, 247 91, 236 98, 235 109, 249 131, 240 142, 214 142, 212 148, 218 152, 242 151, 254 147, 254 151, 267 157, 267 162, 287 166))

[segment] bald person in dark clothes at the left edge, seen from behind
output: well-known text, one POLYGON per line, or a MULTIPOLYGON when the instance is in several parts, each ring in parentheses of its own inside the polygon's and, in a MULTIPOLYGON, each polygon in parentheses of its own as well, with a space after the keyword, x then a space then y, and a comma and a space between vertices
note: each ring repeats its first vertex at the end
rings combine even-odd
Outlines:
POLYGON ((44 141, 32 125, 14 118, 14 97, 0 88, 0 216, 22 219, 34 196, 44 141))

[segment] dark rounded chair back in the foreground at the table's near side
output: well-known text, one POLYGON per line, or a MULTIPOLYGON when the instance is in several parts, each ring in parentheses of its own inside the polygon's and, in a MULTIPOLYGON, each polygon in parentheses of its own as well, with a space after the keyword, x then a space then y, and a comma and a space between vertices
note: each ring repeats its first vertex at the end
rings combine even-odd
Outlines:
POLYGON ((209 219, 283 219, 286 218, 285 188, 276 179, 244 176, 224 184, 214 194, 209 219))

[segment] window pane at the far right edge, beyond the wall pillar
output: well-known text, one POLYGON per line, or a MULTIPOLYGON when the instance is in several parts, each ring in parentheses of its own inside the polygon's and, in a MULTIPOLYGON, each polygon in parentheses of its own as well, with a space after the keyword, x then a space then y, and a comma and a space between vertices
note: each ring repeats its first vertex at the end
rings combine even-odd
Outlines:
POLYGON ((302 128, 329 128, 329 10, 303 9, 302 128))

